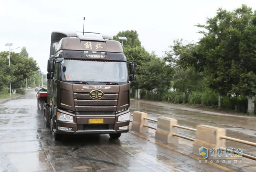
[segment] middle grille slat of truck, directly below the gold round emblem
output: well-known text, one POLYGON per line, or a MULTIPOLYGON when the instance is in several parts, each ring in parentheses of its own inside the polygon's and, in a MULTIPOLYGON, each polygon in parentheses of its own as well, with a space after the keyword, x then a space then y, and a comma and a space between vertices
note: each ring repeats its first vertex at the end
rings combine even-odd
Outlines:
POLYGON ((117 100, 77 100, 75 99, 75 105, 91 105, 91 106, 114 106, 117 105, 117 100))

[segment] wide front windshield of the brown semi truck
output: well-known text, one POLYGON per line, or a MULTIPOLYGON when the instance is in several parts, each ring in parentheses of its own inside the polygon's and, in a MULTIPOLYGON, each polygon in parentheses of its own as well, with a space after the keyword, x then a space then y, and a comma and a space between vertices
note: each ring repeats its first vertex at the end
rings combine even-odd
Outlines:
MULTIPOLYGON (((88 84, 115 82, 128 83, 127 63, 121 61, 65 59, 61 62, 61 81, 81 81, 88 84), (63 70, 64 67, 64 70, 63 70), (65 69, 66 68, 66 69, 65 69)), ((102 83, 99 85, 106 85, 102 83)))

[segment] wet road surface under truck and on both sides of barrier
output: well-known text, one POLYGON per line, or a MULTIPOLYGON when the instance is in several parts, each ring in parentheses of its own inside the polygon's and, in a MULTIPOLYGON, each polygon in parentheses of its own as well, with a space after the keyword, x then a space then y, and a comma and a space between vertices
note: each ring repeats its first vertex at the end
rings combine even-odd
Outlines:
MULTIPOLYGON (((147 112, 151 118, 169 116, 176 118, 179 125, 192 128, 196 124, 221 126, 228 130, 227 136, 256 142, 253 120, 193 114, 148 101, 131 103, 131 111, 147 112)), ((178 132, 195 135, 186 130, 178 132)), ((243 148, 255 151, 249 146, 243 148)), ((37 113, 34 92, 0 104, 0 172, 256 171, 256 163, 248 159, 243 164, 199 164, 198 158, 192 153, 191 141, 180 139, 178 144, 164 144, 154 139, 151 129, 144 136, 130 131, 117 140, 102 134, 67 136, 56 142, 37 113)))

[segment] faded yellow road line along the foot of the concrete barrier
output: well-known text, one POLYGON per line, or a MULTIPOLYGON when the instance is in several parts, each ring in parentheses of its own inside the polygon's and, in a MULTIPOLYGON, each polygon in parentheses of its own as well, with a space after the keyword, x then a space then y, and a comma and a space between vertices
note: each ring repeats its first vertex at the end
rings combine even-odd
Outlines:
MULTIPOLYGON (((142 135, 139 134, 139 133, 135 133, 135 132, 133 132, 133 131, 131 131, 131 130, 130 130, 129 132, 132 133, 132 134, 135 134, 136 136, 142 137, 142 138, 144 138, 145 140, 148 140, 148 141, 150 141, 150 142, 153 142, 153 141, 149 140, 148 137, 142 136, 142 135)), ((155 141, 155 143, 158 144, 158 145, 164 146, 164 147, 166 147, 166 148, 172 149, 172 150, 174 150, 174 151, 176 151, 176 152, 179 152, 179 153, 181 153, 181 154, 184 154, 184 155, 187 155, 187 156, 189 156, 189 157, 195 158, 195 159, 197 159, 197 160, 200 159, 200 157, 198 157, 198 156, 196 156, 196 155, 192 155, 191 153, 187 153, 187 152, 184 152, 184 151, 182 151, 182 150, 173 148, 172 146, 163 144, 163 143, 161 143, 161 142, 155 141)), ((208 163, 207 163, 207 164, 208 164, 208 163)), ((210 163, 209 163, 209 164, 210 164, 210 163)), ((223 166, 218 165, 218 164, 210 164, 210 165, 213 165, 213 166, 215 166, 215 167, 221 168, 221 169, 226 170, 226 171, 229 171, 229 172, 237 172, 237 171, 234 171, 233 169, 229 169, 229 168, 227 168, 227 167, 223 167, 223 166)))

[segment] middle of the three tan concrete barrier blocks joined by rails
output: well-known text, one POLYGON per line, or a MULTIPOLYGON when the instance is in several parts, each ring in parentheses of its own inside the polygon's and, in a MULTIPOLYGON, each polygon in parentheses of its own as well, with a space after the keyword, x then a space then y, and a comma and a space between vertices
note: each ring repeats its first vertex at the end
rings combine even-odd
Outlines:
POLYGON ((158 117, 155 138, 166 143, 178 143, 178 137, 172 135, 177 133, 177 128, 173 127, 173 124, 177 125, 177 123, 177 120, 173 118, 158 117))

